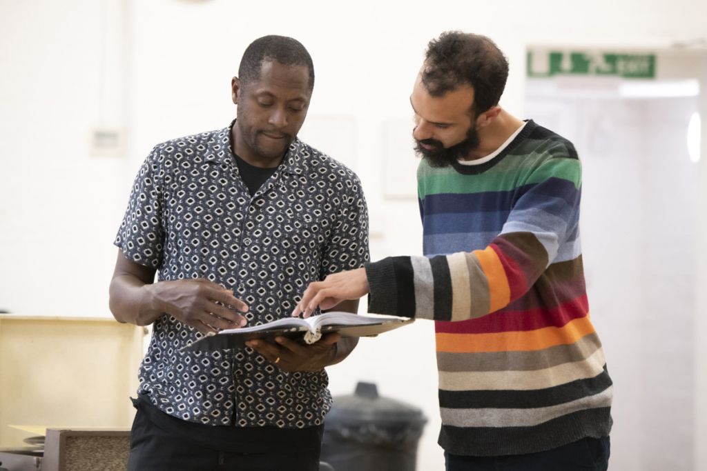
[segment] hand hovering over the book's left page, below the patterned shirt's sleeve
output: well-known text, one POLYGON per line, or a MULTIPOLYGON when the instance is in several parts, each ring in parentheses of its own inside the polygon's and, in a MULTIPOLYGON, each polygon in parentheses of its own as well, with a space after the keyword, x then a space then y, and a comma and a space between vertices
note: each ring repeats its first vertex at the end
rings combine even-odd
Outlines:
POLYGON ((174 280, 145 285, 158 309, 204 335, 247 323, 248 306, 227 290, 209 280, 174 280))

